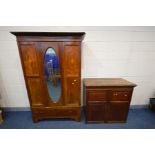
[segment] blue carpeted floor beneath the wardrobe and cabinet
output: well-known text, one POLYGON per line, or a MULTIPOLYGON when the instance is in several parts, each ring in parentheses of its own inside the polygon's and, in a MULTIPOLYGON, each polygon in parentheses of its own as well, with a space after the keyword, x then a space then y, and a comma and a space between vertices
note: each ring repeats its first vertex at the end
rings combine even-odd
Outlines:
POLYGON ((30 111, 5 112, 0 129, 154 129, 155 113, 149 109, 130 109, 127 123, 85 124, 82 112, 81 122, 68 119, 50 119, 33 123, 30 111))

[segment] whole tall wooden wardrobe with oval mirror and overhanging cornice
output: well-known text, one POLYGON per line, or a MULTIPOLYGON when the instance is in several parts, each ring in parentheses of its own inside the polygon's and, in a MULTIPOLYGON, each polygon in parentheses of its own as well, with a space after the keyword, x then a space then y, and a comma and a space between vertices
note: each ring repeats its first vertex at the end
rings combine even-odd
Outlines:
POLYGON ((80 121, 84 32, 11 32, 16 36, 34 122, 80 121))

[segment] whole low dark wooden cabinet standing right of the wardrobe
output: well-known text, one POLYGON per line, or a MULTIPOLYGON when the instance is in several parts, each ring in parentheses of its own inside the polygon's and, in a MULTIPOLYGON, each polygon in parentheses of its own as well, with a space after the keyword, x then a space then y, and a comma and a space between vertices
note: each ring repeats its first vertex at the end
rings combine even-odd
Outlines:
POLYGON ((135 84, 119 78, 84 79, 86 122, 126 122, 135 86, 135 84))

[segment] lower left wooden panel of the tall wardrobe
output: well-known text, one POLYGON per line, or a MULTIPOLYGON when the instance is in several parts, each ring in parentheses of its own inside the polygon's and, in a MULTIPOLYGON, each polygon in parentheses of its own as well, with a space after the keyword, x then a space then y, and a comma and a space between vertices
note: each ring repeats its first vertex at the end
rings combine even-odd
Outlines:
POLYGON ((32 106, 41 106, 43 105, 42 100, 42 89, 40 79, 38 78, 27 78, 28 89, 30 93, 30 100, 32 106))

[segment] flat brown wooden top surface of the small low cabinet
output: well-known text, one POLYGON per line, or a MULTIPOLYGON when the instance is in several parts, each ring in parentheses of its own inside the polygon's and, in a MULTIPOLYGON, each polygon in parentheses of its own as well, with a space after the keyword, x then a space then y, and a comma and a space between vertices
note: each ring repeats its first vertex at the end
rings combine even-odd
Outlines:
POLYGON ((135 87, 136 86, 136 84, 122 78, 85 78, 83 81, 86 87, 101 87, 101 86, 135 87))

